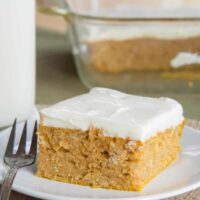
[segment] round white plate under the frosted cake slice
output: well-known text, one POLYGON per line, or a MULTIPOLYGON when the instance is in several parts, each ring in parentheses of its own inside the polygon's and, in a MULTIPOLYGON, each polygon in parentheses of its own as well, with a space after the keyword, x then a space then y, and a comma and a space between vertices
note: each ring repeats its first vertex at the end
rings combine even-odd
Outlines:
MULTIPOLYGON (((17 131, 21 132, 23 124, 18 124, 17 131)), ((28 125, 30 133, 32 123, 28 125)), ((3 154, 8 141, 10 129, 0 133, 0 177, 5 173, 3 154)), ((16 141, 19 140, 19 134, 16 141)), ((80 200, 80 199, 131 199, 150 200, 163 199, 182 194, 200 187, 200 132, 186 127, 182 140, 182 153, 179 158, 142 192, 122 192, 116 190, 93 189, 85 186, 65 184, 36 177, 36 166, 20 169, 13 189, 23 194, 49 200, 80 200)), ((17 143, 16 143, 17 145, 17 143)))

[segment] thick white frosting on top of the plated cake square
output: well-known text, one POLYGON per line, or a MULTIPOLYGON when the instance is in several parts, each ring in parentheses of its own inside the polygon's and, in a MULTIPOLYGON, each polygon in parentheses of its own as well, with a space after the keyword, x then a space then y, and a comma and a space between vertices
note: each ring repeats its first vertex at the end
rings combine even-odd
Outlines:
POLYGON ((88 130, 105 136, 145 141, 183 120, 183 108, 170 98, 149 98, 106 88, 83 94, 41 111, 42 125, 88 130))

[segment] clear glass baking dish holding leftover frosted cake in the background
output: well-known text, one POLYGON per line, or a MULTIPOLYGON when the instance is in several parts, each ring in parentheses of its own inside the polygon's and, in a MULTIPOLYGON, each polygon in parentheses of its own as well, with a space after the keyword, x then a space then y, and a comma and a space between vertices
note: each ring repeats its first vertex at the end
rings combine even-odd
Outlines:
POLYGON ((69 23, 76 67, 88 88, 199 93, 199 1, 51 0, 40 9, 69 23))

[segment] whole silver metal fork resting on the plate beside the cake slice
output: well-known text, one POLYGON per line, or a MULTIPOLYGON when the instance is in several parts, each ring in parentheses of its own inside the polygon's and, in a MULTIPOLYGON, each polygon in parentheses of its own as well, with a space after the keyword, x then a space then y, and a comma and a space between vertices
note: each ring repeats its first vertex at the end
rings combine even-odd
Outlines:
POLYGON ((10 167, 10 169, 8 170, 5 179, 2 183, 0 200, 9 199, 12 183, 14 181, 17 170, 19 168, 32 165, 35 162, 37 154, 37 135, 36 135, 37 121, 35 121, 29 153, 26 153, 27 121, 25 122, 22 131, 18 149, 16 153, 13 153, 15 133, 16 133, 16 123, 17 120, 15 119, 4 155, 4 163, 7 164, 10 167))

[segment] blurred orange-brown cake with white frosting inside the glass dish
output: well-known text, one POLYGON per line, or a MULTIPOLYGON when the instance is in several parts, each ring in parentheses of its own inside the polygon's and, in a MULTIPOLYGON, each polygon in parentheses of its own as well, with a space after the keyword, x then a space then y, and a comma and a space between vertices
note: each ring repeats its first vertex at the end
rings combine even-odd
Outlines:
POLYGON ((91 35, 86 42, 90 66, 104 73, 199 70, 199 22, 148 23, 91 35))

